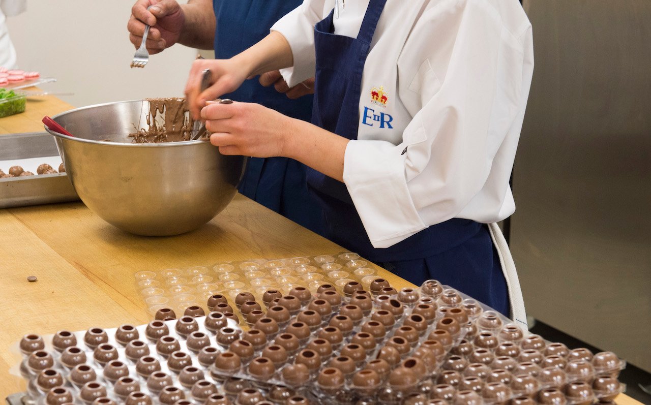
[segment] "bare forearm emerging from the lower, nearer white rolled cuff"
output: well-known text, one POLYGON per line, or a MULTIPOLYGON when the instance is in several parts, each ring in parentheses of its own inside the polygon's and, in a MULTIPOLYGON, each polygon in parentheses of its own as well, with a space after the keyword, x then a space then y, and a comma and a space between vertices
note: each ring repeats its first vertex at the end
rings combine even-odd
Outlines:
POLYGON ((283 155, 344 181, 344 154, 348 141, 309 122, 292 119, 283 155))

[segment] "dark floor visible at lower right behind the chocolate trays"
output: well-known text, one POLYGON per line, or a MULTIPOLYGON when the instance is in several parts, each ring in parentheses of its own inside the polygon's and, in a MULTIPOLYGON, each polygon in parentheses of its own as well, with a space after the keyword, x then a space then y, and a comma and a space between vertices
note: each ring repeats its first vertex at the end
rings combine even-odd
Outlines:
MULTIPOLYGON (((575 339, 574 337, 553 328, 552 326, 547 325, 544 322, 536 320, 533 328, 531 328, 531 333, 536 333, 541 335, 548 341, 561 342, 564 343, 568 348, 578 348, 585 347, 592 350, 593 353, 603 352, 607 349, 602 349, 575 339)), ((651 356, 651 348, 649 348, 651 356)), ((635 367, 635 365, 627 364, 626 369, 624 369, 621 374, 619 374, 620 382, 626 384, 626 395, 636 400, 639 400, 643 404, 651 404, 651 395, 644 392, 642 386, 646 386, 646 389, 651 390, 651 374, 635 367)))

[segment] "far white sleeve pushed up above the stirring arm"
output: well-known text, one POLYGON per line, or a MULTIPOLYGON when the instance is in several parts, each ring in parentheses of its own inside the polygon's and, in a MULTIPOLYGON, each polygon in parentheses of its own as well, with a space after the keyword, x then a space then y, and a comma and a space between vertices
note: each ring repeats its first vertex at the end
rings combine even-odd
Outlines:
POLYGON ((283 79, 290 87, 314 77, 314 25, 323 20, 326 3, 333 1, 305 0, 271 27, 271 31, 283 34, 292 48, 294 66, 281 69, 283 79))

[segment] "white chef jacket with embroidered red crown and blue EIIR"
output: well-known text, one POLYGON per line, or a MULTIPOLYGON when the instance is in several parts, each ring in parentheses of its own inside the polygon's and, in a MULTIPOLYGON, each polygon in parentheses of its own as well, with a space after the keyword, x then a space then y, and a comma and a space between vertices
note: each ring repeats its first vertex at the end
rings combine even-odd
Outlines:
MULTIPOLYGON (((289 86, 312 77, 314 25, 334 0, 305 0, 273 27, 288 40, 289 86)), ((368 0, 345 0, 335 34, 356 37, 368 0)), ((344 183, 376 248, 450 218, 515 211, 508 179, 531 76, 531 24, 518 0, 387 0, 365 64, 344 183)), ((337 102, 333 100, 333 102, 337 102)))

